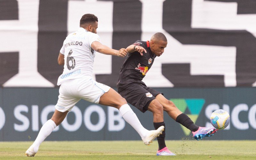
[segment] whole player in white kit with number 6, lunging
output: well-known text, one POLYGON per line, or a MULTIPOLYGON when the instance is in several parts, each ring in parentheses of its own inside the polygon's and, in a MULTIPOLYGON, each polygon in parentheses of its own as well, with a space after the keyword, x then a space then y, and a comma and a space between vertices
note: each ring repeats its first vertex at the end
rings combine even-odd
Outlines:
POLYGON ((145 129, 120 94, 109 86, 92 80, 95 51, 120 57, 127 54, 124 48, 118 51, 101 44, 96 34, 97 28, 98 18, 93 14, 84 14, 80 20, 80 28, 64 40, 58 57, 59 65, 64 65, 63 73, 57 83, 60 85, 59 100, 52 118, 42 126, 35 142, 25 152, 26 156, 35 156, 44 139, 81 99, 119 109, 124 120, 140 134, 145 145, 149 145, 164 131, 164 126, 152 131, 145 129))

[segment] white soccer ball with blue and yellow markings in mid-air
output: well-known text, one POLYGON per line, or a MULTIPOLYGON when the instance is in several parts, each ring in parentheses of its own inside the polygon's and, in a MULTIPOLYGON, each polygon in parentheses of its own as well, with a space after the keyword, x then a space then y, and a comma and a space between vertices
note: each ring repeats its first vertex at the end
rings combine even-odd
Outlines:
POLYGON ((213 127, 219 130, 226 128, 230 122, 230 116, 228 112, 223 109, 214 111, 210 119, 213 127))

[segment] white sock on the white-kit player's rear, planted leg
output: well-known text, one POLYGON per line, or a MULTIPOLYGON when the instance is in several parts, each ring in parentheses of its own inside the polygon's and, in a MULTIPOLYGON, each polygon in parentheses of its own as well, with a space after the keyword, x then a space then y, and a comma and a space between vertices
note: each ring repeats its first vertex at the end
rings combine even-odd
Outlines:
POLYGON ((39 149, 40 144, 45 140, 47 136, 49 136, 52 133, 52 130, 56 128, 56 124, 53 122, 53 120, 49 119, 40 129, 40 132, 38 133, 35 142, 31 145, 34 147, 34 151, 37 152, 39 149))

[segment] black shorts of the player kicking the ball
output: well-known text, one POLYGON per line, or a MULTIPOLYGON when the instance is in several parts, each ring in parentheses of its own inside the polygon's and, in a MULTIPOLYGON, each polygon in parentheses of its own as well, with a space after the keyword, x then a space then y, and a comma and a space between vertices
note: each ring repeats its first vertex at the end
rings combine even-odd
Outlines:
POLYGON ((156 99, 157 94, 163 94, 144 84, 134 83, 118 92, 128 103, 138 108, 141 112, 148 110, 149 103, 156 99))

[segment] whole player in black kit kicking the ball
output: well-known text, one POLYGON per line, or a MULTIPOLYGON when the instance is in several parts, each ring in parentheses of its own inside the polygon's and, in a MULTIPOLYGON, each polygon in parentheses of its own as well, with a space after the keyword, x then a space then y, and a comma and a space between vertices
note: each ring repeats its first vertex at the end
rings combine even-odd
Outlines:
MULTIPOLYGON (((141 112, 147 110, 153 113, 153 124, 157 129, 165 126, 163 112, 166 111, 172 119, 187 127, 196 140, 203 137, 210 137, 218 129, 214 127, 199 127, 175 104, 167 100, 163 93, 146 86, 142 79, 151 68, 154 59, 163 54, 167 46, 167 39, 163 33, 154 34, 150 41, 136 41, 126 48, 128 54, 124 61, 117 82, 118 93, 124 97, 128 103, 138 108, 141 112)), ((175 156, 165 145, 165 131, 157 137, 158 151, 157 156, 175 156)))

